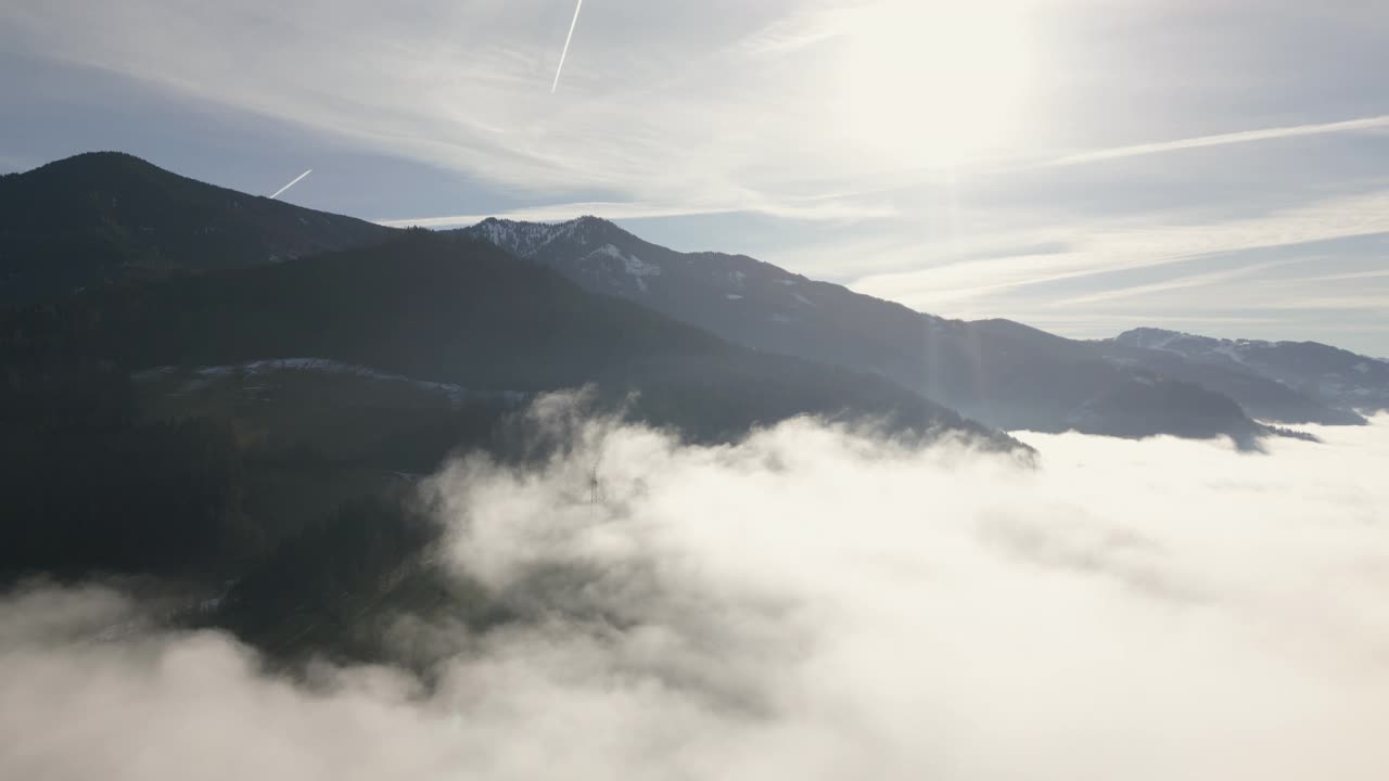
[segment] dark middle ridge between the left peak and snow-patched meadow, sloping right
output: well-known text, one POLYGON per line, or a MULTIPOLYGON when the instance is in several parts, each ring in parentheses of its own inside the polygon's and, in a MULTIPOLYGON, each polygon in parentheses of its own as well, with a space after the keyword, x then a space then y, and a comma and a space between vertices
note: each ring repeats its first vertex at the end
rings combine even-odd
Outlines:
POLYGON ((614 404, 639 392, 635 414, 700 439, 851 413, 1015 445, 882 378, 758 354, 490 245, 422 231, 26 307, 0 325, 0 356, 135 372, 324 359, 474 392, 596 384, 614 404))

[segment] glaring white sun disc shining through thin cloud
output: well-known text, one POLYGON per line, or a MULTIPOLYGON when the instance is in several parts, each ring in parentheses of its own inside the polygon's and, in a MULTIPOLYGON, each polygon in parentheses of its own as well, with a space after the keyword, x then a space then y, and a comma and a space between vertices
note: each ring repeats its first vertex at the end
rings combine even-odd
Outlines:
POLYGON ((888 0, 843 17, 833 113, 857 154, 953 164, 1020 135, 1032 50, 1020 0, 888 0))

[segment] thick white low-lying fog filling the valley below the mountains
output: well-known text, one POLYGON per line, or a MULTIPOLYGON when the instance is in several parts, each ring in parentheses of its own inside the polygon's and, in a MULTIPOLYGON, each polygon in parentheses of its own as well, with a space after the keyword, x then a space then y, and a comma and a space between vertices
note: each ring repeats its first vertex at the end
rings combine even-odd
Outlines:
POLYGON ((1029 470, 592 422, 544 470, 435 478, 449 556, 528 620, 401 618, 453 649, 428 692, 113 639, 139 606, 96 586, 6 598, 0 777, 1379 781, 1389 417, 1317 434, 1022 434, 1029 470))

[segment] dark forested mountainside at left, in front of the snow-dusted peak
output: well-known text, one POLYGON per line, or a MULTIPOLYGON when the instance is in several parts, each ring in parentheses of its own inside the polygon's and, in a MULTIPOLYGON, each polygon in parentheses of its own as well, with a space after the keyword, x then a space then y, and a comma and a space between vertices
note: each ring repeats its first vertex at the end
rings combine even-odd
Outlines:
POLYGON ((250 578, 226 623, 300 636, 254 582, 394 573, 392 546, 421 539, 392 510, 413 481, 456 449, 533 457, 547 439, 519 410, 581 386, 588 411, 701 442, 817 414, 1031 452, 883 378, 732 345, 472 239, 119 154, 0 189, 0 579, 139 574, 219 593, 250 578), (364 517, 404 524, 396 543, 350 532, 364 517), (365 549, 300 577, 315 539, 365 549))

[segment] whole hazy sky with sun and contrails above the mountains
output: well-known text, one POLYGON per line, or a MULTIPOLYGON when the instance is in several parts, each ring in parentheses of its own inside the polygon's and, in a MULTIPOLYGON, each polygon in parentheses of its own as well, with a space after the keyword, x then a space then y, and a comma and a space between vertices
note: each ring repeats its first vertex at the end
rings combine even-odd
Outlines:
POLYGON ((949 317, 1389 356, 1389 6, 11 0, 0 171, 614 218, 949 317), (551 92, 553 88, 553 92, 551 92))

